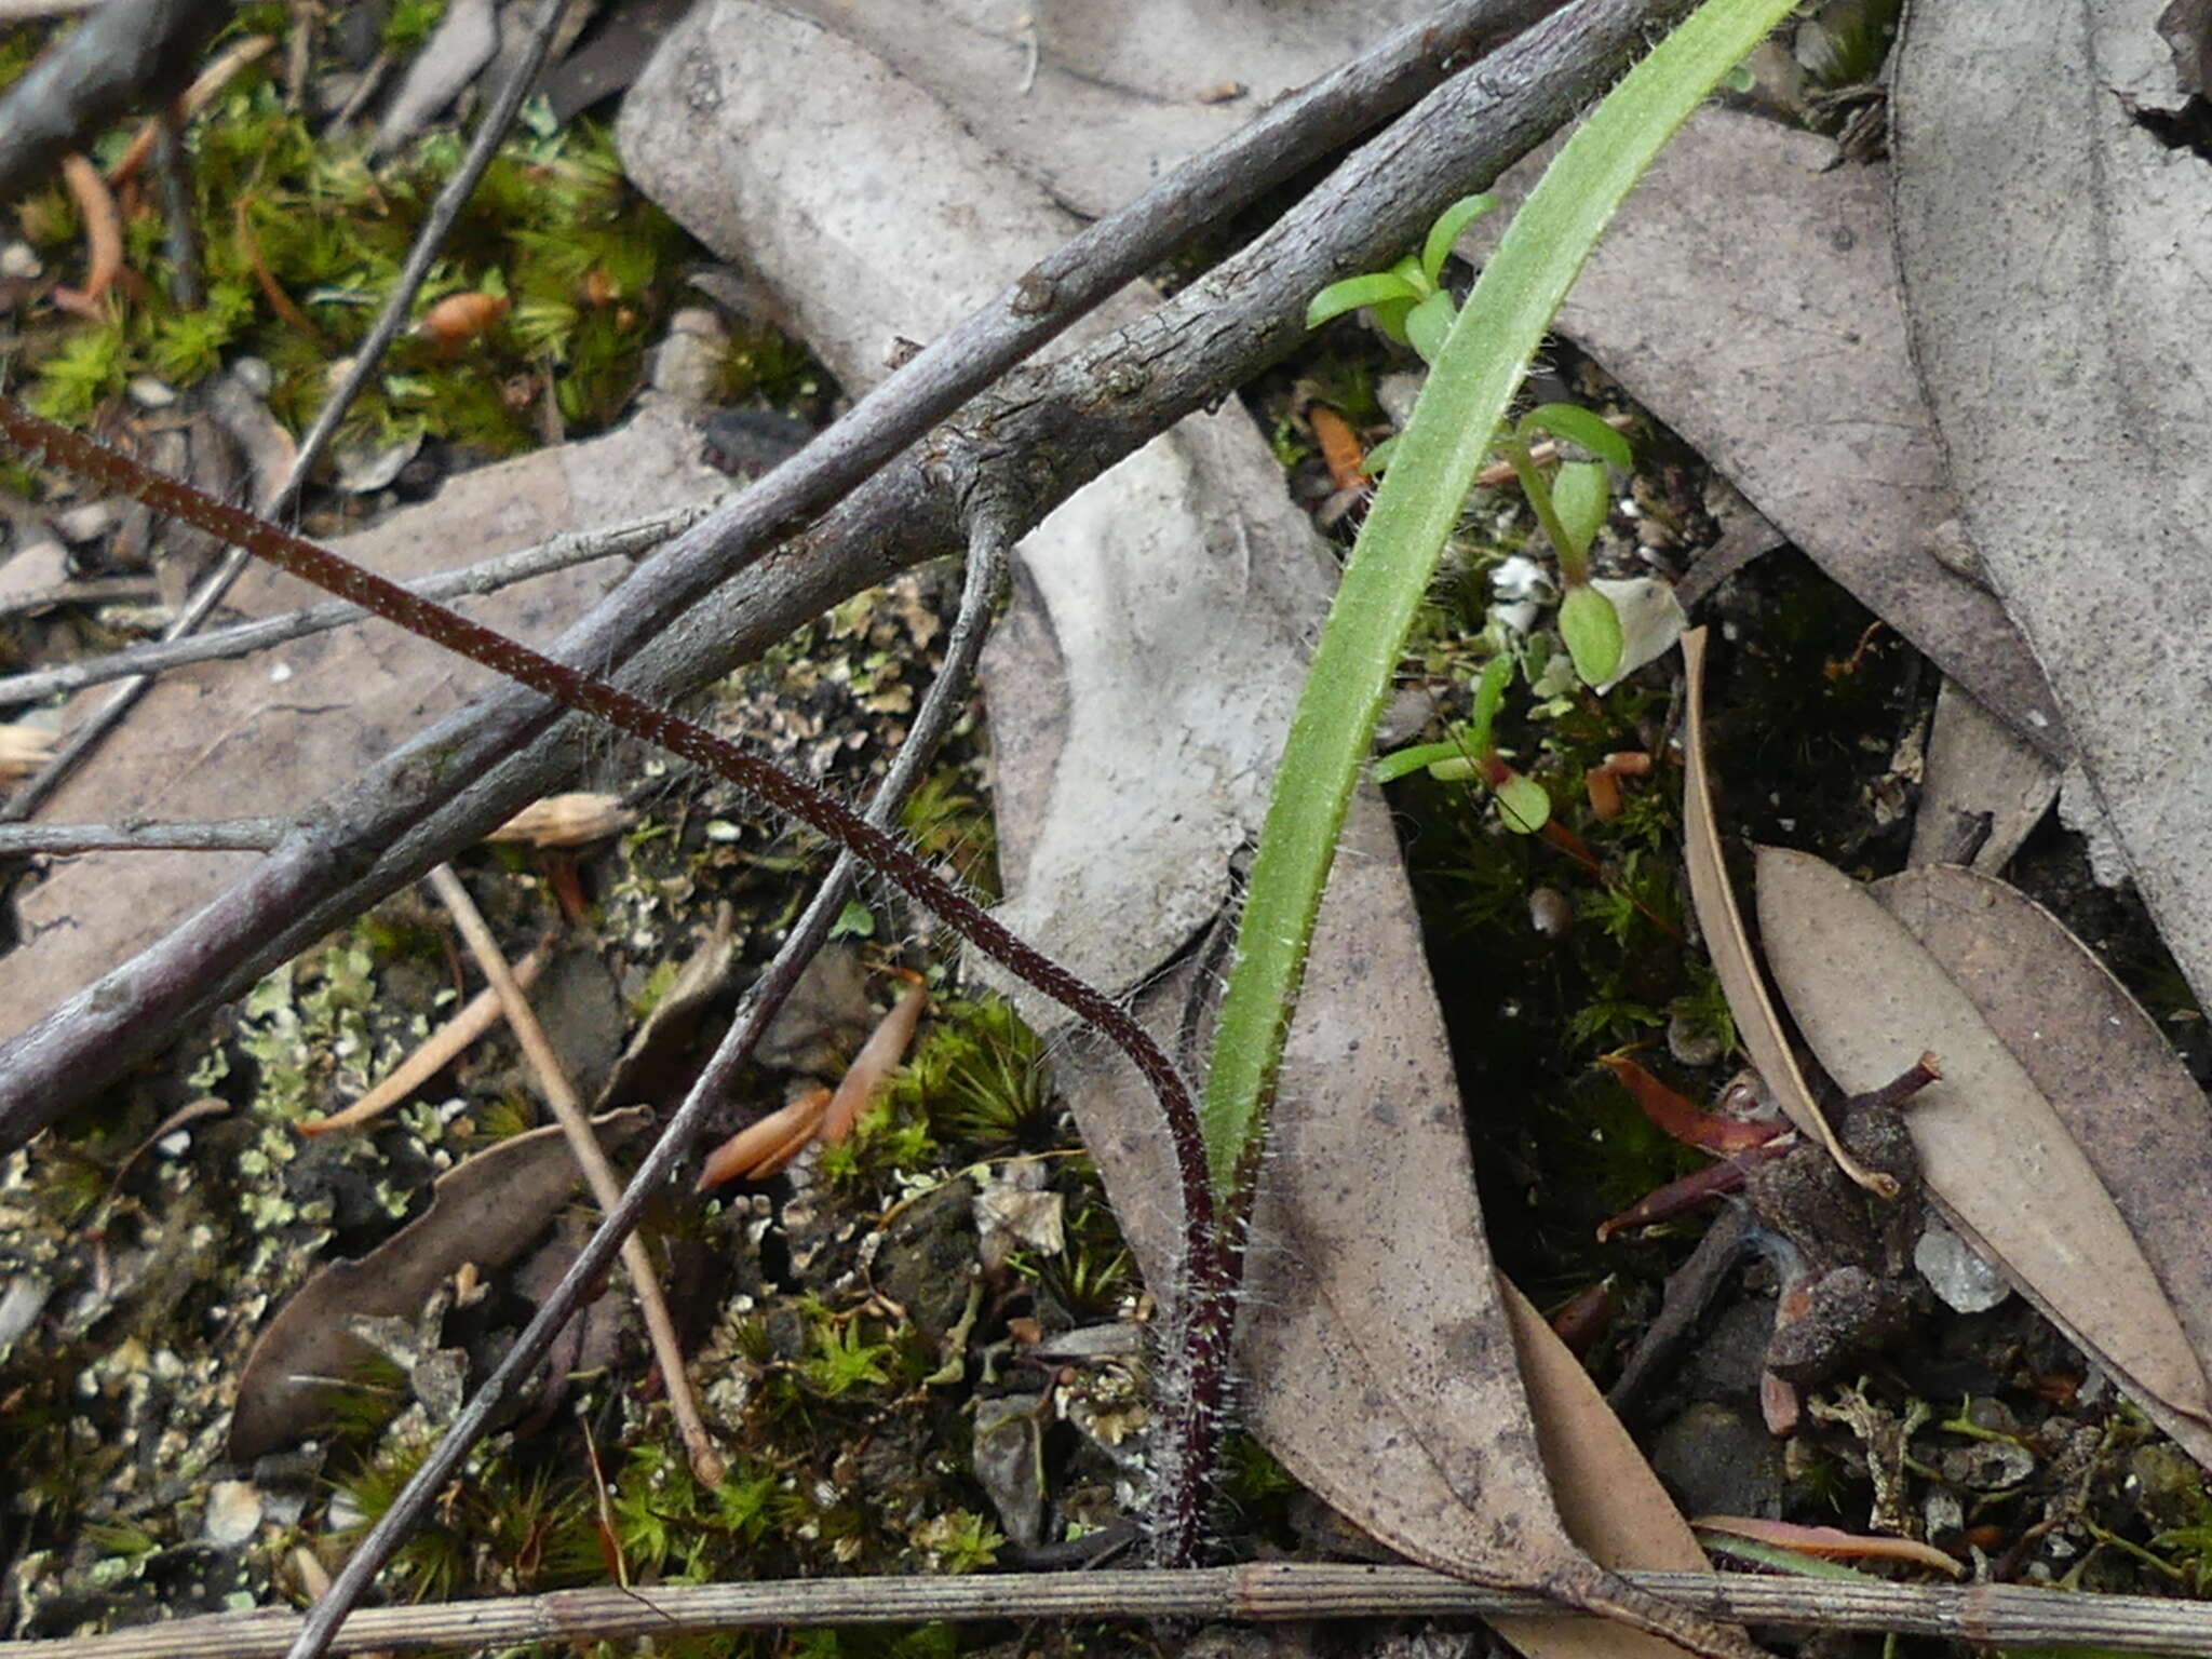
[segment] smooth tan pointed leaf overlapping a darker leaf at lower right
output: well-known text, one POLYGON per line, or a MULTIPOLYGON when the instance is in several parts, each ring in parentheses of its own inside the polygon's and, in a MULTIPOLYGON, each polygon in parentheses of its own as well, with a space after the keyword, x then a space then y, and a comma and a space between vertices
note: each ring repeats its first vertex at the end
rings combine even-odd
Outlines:
MULTIPOLYGON (((1790 1013, 1845 1091, 1889 1082, 1924 1048, 1938 1055, 1942 1082, 1907 1113, 1929 1197, 2212 1467, 2212 1391, 2174 1305, 2066 1119, 1975 1000, 1880 898, 1803 852, 1759 849, 1759 929, 1790 1013)), ((2022 1035, 2017 1018, 2011 1029, 2022 1035)), ((2033 1042, 2033 1020, 2026 1031, 2033 1042)))

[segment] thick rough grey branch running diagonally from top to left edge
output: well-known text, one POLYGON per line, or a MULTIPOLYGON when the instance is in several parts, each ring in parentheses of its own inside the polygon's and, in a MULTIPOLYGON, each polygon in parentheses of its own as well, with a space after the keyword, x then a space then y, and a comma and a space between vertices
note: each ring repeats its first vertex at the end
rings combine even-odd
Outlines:
MULTIPOLYGON (((1644 31, 1686 7, 1575 0, 1447 82, 1274 230, 1144 323, 1011 376, 1006 394, 964 425, 975 434, 971 451, 1000 476, 1020 473, 1018 526, 1285 356, 1305 336, 1307 296, 1413 246, 1447 201, 1493 179, 1604 93, 1644 31)), ((781 557, 734 575, 734 553, 754 546, 750 531, 792 500, 794 487, 779 482, 785 473, 818 478, 852 465, 836 434, 670 542, 557 650, 619 664, 624 686, 677 699, 845 595, 958 546, 953 500, 973 478, 973 456, 949 434, 947 445, 869 478, 781 557), (810 460, 816 453, 827 460, 810 460), (807 471, 814 465, 825 473, 807 471)), ((500 688, 436 723, 314 803, 301 832, 188 922, 0 1046, 0 1150, 330 927, 560 787, 582 732, 553 730, 557 717, 544 697, 500 688)))

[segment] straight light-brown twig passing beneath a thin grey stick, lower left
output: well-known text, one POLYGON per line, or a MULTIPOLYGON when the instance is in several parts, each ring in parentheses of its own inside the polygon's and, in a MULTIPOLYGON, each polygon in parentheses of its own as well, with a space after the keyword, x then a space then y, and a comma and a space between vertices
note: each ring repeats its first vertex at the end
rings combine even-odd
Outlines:
MULTIPOLYGON (((538 1091, 546 1097, 553 1119, 560 1124, 562 1135, 568 1137, 568 1150, 575 1152, 575 1161, 584 1168, 584 1183, 591 1188, 591 1197, 599 1201, 602 1210, 613 1210, 622 1203, 622 1179, 615 1175, 615 1166, 608 1164, 606 1148, 599 1146, 599 1135, 591 1126, 591 1113, 584 1108, 584 1102, 577 1099, 575 1084, 568 1082, 568 1068, 553 1053, 546 1029, 538 1024, 531 1000, 522 995, 515 971, 507 967, 500 942, 491 938, 491 925, 476 909, 476 900, 469 898, 469 889, 460 885, 460 876, 453 874, 451 865, 438 865, 429 872, 429 885, 438 894, 438 902, 453 918, 453 927, 460 929, 460 938, 467 942, 469 956, 476 958, 478 971, 491 982, 491 991, 500 1000, 500 1011, 507 1015, 515 1042, 522 1044, 522 1057, 529 1060, 531 1073, 538 1077, 538 1091)), ((690 1371, 684 1367, 684 1343, 677 1338, 677 1323, 668 1316, 661 1276, 653 1265, 653 1252, 646 1250, 646 1241, 635 1232, 622 1241, 622 1267, 630 1274, 630 1294, 637 1296, 637 1312, 644 1314, 646 1336, 653 1343, 653 1358, 661 1367, 661 1387, 668 1389, 668 1409, 675 1413, 677 1431, 684 1436, 692 1478, 701 1486, 721 1486, 730 1475, 730 1464, 699 1418, 699 1396, 692 1394, 690 1371)))

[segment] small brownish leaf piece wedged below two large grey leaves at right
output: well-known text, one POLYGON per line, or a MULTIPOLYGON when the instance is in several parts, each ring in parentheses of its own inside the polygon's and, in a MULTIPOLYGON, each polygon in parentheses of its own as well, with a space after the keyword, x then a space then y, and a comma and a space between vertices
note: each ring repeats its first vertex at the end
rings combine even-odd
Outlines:
POLYGON ((1913 865, 1973 865, 1997 874, 2044 821, 2059 768, 1947 679, 1936 695, 1927 772, 1913 812, 1913 865))

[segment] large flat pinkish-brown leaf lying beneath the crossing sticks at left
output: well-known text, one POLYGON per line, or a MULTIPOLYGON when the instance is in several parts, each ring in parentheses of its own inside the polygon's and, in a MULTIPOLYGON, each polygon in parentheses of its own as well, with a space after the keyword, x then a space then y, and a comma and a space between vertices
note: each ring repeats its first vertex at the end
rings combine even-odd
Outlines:
MULTIPOLYGON (((701 467, 697 451, 697 429, 648 403, 622 431, 460 473, 434 502, 332 546, 380 575, 431 575, 560 531, 712 500, 728 480, 701 467)), ((606 566, 580 566, 462 599, 460 608, 515 639, 544 644, 604 586, 606 566)), ((252 568, 226 604, 263 617, 321 597, 294 577, 252 568)), ((489 668, 380 622, 241 661, 179 668, 139 699, 40 816, 102 823, 296 812, 493 681, 489 668)), ((95 686, 71 708, 97 706, 106 695, 95 686)), ((117 852, 55 863, 15 900, 24 942, 0 975, 0 1037, 168 933, 254 858, 117 852)))

